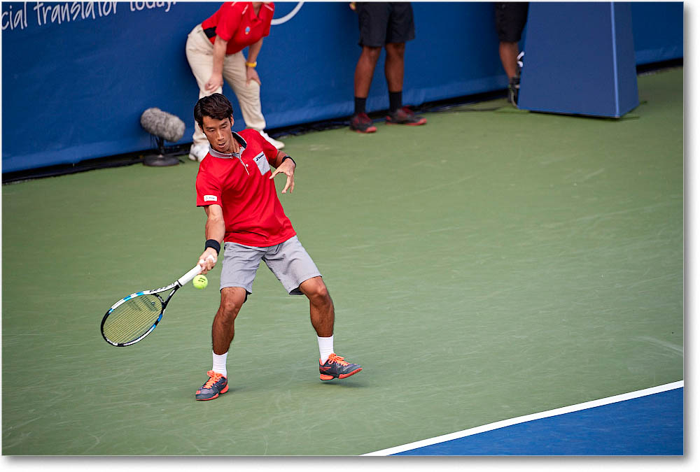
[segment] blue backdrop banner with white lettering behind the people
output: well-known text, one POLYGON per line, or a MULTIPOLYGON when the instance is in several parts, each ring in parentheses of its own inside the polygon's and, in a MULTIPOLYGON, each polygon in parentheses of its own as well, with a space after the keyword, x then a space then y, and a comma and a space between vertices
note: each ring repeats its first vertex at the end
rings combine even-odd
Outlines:
MULTIPOLYGON (((187 35, 221 3, 2 3, 2 171, 22 171, 154 148, 139 117, 158 107, 181 117, 192 141, 197 84, 187 35)), ((407 105, 501 90, 492 3, 413 3, 407 105)), ((682 3, 633 3, 636 63, 682 57, 682 3)), ((360 54, 348 2, 278 2, 258 56, 269 129, 347 117, 360 54)), ((233 92, 224 94, 240 113, 233 92)), ((388 107, 384 55, 367 110, 388 107)), ((241 129, 237 120, 235 129, 241 129)))

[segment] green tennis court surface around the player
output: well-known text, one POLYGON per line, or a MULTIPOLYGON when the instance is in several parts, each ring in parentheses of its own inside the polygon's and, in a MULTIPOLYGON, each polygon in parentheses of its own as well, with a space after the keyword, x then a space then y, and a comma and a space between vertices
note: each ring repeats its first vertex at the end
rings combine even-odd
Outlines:
POLYGON ((208 402, 220 266, 141 343, 99 333, 202 252, 197 164, 4 185, 3 455, 359 455, 682 380, 682 85, 640 76, 622 120, 498 100, 287 136, 281 201, 363 371, 318 380, 308 303, 262 266, 208 402))

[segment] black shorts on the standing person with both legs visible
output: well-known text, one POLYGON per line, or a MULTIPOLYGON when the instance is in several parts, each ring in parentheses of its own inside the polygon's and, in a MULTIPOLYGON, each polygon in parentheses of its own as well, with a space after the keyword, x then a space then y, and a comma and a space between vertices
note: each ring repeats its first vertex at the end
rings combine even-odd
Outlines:
POLYGON ((358 2, 355 11, 360 22, 360 46, 381 48, 416 37, 411 3, 358 2))

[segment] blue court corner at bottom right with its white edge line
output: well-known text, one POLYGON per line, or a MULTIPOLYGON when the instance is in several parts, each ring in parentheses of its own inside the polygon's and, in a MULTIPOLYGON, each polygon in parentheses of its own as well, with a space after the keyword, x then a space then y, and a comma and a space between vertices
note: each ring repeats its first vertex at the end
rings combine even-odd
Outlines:
POLYGON ((683 382, 514 418, 369 455, 683 455, 683 382))

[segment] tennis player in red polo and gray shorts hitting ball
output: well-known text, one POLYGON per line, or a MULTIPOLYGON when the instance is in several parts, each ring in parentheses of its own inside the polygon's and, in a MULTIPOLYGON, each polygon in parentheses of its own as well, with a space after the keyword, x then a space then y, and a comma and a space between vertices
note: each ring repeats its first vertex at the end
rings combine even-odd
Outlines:
POLYGON ((234 322, 253 292, 260 261, 265 261, 288 294, 309 299, 311 325, 321 353, 321 380, 358 373, 362 367, 333 352, 333 301, 277 198, 273 179, 279 173, 287 178, 282 193, 294 190, 294 159, 276 150, 254 129, 232 131, 233 109, 222 94, 202 97, 194 113, 209 141, 209 152, 200 163, 196 183, 197 206, 207 213, 207 241, 200 256, 202 273, 216 265, 221 243, 225 248, 221 305, 211 326, 213 365, 195 399, 212 400, 228 392, 226 357, 233 341, 234 322))

